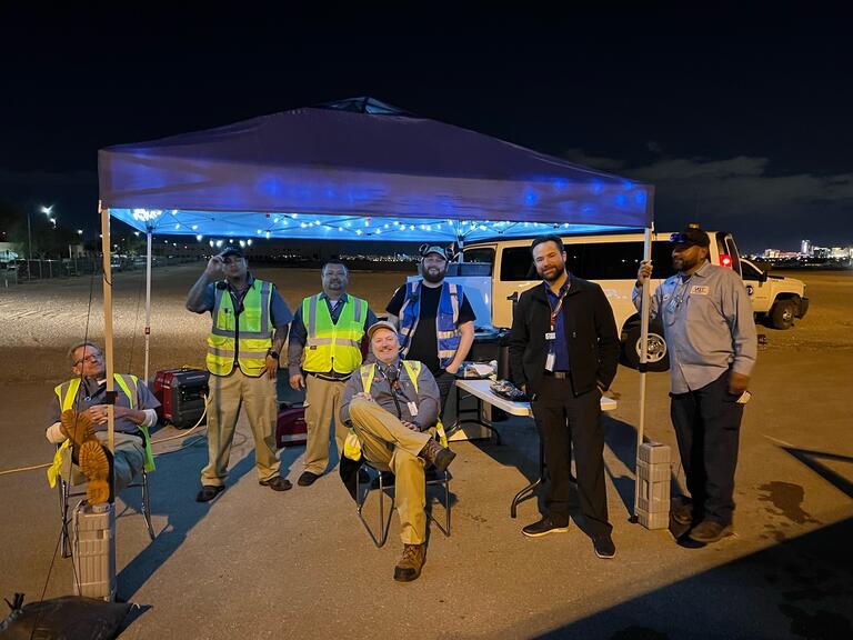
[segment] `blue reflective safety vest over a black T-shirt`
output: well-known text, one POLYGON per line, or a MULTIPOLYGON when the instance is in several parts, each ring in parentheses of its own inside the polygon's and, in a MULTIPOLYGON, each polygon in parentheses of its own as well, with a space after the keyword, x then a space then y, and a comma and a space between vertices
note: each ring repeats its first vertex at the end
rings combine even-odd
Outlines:
MULTIPOLYGON (((418 330, 421 314, 421 281, 409 282, 405 299, 400 308, 400 352, 409 354, 411 336, 418 330)), ((435 336, 438 338, 439 362, 445 369, 453 361, 459 349, 462 332, 459 330, 459 309, 462 306, 464 292, 462 287, 451 282, 442 282, 439 310, 435 313, 435 336)))

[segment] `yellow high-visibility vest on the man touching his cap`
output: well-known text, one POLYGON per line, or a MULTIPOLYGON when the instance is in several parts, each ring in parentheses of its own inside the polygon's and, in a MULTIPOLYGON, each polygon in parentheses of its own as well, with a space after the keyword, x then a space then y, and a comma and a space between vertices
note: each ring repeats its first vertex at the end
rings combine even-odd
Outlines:
POLYGON ((214 288, 213 328, 208 336, 208 371, 213 376, 228 376, 234 368, 237 357, 240 370, 258 378, 267 367, 267 353, 272 348, 272 282, 253 280, 239 316, 234 312, 228 286, 223 284, 221 282, 214 288))

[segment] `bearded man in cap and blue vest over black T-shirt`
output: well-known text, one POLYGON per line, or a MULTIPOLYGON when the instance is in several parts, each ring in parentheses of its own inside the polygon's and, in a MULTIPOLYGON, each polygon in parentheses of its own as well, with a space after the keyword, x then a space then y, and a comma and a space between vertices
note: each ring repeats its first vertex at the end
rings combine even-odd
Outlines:
POLYGON ((428 247, 421 259, 422 280, 400 287, 385 311, 400 327, 404 358, 423 362, 441 392, 441 409, 448 401, 456 371, 474 342, 476 316, 462 287, 444 281, 448 253, 428 247))

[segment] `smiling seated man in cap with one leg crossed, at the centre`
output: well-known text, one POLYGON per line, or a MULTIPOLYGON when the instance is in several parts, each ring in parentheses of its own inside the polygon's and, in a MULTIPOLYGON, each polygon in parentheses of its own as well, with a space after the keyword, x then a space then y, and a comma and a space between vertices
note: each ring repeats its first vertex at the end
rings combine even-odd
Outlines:
POLYGON ((421 574, 426 551, 424 466, 443 472, 455 453, 433 438, 440 393, 429 369, 401 360, 392 323, 377 322, 368 329, 368 338, 375 362, 353 373, 341 399, 341 422, 358 437, 357 442, 348 438, 344 454, 360 459, 363 453, 373 467, 393 471, 404 547, 394 580, 410 582, 421 574))

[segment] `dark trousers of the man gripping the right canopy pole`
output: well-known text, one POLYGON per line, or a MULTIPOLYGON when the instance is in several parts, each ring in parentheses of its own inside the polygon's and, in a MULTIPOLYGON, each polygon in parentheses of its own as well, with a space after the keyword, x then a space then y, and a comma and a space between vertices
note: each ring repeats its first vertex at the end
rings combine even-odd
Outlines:
POLYGON ((743 404, 729 393, 727 372, 701 389, 671 397, 670 416, 694 519, 730 524, 743 404))

